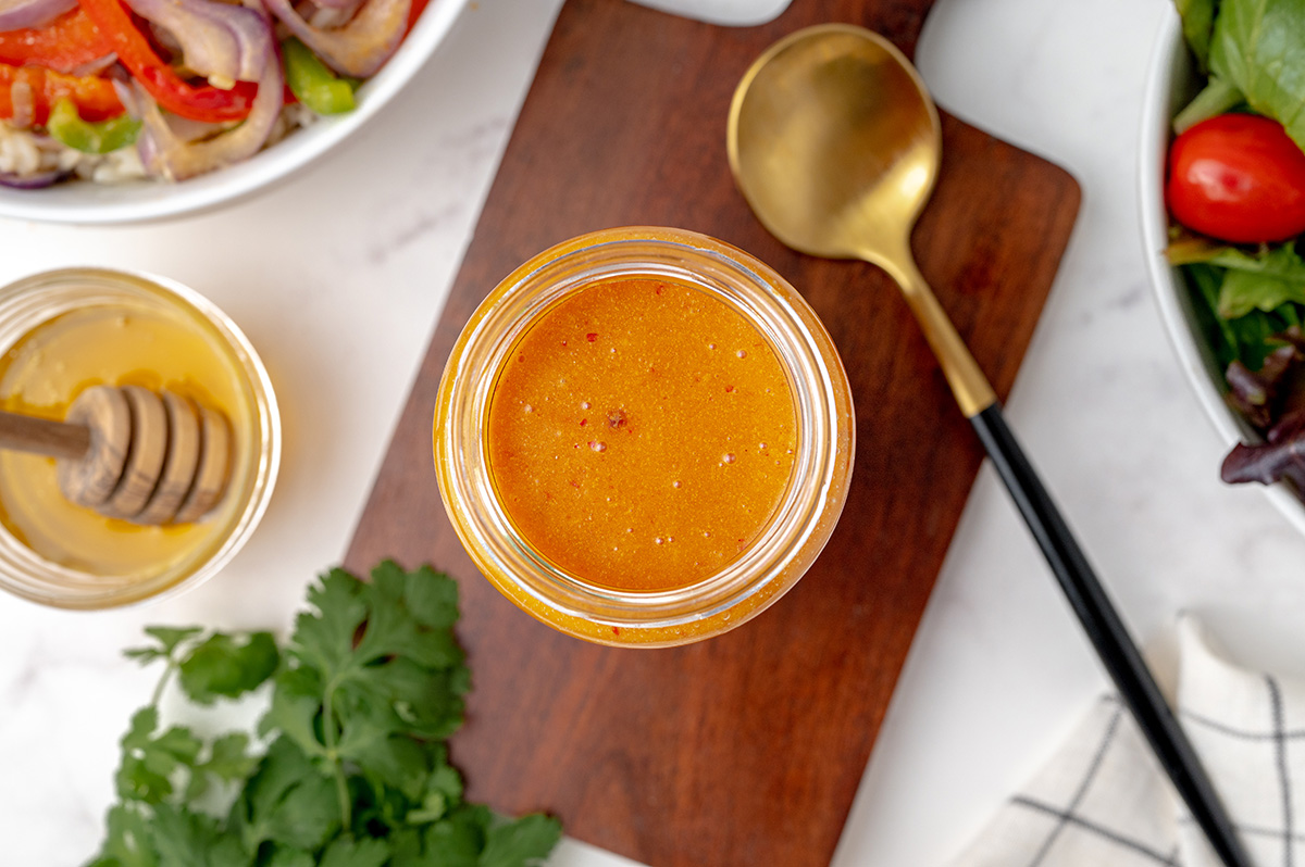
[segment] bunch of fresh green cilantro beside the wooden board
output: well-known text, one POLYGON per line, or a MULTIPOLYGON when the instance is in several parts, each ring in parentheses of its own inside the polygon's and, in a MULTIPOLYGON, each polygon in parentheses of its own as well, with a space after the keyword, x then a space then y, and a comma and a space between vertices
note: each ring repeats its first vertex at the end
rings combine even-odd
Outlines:
POLYGON ((385 562, 364 583, 331 570, 284 647, 270 632, 150 627, 127 651, 162 662, 123 737, 90 867, 527 867, 556 820, 509 820, 463 801, 445 739, 470 671, 453 636, 457 584, 385 562), (270 682, 256 735, 163 727, 174 682, 207 707, 270 682), (265 744, 265 746, 264 746, 265 744))

